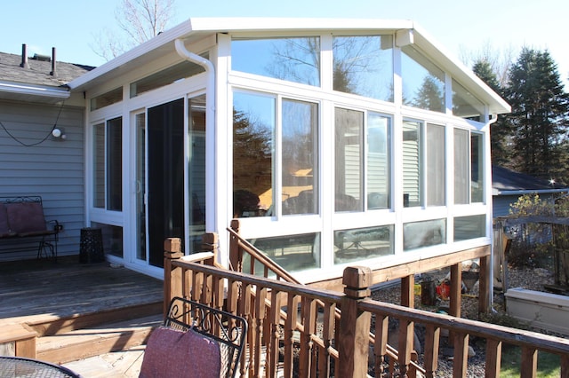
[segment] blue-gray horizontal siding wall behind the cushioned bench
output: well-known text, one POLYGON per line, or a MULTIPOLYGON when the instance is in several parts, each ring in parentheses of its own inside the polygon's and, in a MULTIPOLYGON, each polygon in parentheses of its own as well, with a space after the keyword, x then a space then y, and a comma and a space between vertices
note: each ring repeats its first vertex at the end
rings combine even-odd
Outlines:
MULTIPOLYGON (((60 104, 0 100, 0 196, 41 196, 45 217, 63 224, 58 252, 67 256, 79 253, 84 227, 84 110, 64 106, 58 120, 59 113, 60 104), (51 137, 56 122, 67 139, 51 137), (24 145, 45 140, 22 146, 14 138, 24 145)), ((35 258, 34 240, 0 240, 0 261, 35 258)))

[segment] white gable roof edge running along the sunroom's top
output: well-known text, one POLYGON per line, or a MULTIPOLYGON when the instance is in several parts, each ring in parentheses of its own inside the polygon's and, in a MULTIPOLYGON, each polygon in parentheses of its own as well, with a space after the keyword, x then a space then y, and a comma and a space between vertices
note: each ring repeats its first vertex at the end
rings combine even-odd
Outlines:
MULTIPOLYGON (((274 33, 317 33, 336 31, 341 33, 373 33, 404 35, 433 59, 437 66, 449 72, 470 93, 490 106, 491 114, 510 112, 509 104, 488 87, 468 67, 447 53, 433 41, 422 28, 411 20, 358 20, 358 19, 283 19, 283 18, 196 18, 164 31, 146 43, 125 52, 91 72, 69 83, 72 90, 84 91, 98 83, 105 83, 129 72, 140 64, 158 59, 174 51, 177 39, 188 42, 218 33, 248 33, 251 35, 274 35, 274 33)), ((396 38, 397 39, 397 38, 396 38)))

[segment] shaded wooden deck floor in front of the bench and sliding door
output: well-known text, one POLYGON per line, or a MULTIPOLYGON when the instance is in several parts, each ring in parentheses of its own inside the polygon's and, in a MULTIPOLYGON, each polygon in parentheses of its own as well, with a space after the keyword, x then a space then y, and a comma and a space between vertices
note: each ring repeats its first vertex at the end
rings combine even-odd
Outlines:
POLYGON ((30 316, 66 318, 163 300, 163 284, 108 263, 78 256, 0 264, 0 322, 30 316))

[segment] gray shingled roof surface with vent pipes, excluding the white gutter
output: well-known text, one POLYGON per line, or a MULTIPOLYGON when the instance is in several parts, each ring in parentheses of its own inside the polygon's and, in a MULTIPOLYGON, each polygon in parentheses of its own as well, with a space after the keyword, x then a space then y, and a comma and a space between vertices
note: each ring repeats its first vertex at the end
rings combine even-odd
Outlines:
POLYGON ((28 67, 20 67, 21 55, 0 52, 0 81, 61 87, 91 71, 94 67, 56 61, 55 74, 52 61, 28 58, 28 67))

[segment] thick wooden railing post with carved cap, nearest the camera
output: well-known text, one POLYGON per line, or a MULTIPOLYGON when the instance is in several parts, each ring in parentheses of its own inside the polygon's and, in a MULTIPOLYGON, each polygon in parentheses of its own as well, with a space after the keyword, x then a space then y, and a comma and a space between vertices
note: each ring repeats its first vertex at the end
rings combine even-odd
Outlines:
POLYGON ((348 267, 344 270, 342 283, 346 287, 341 301, 338 376, 365 377, 372 314, 358 310, 357 304, 370 295, 372 270, 367 266, 348 267))

